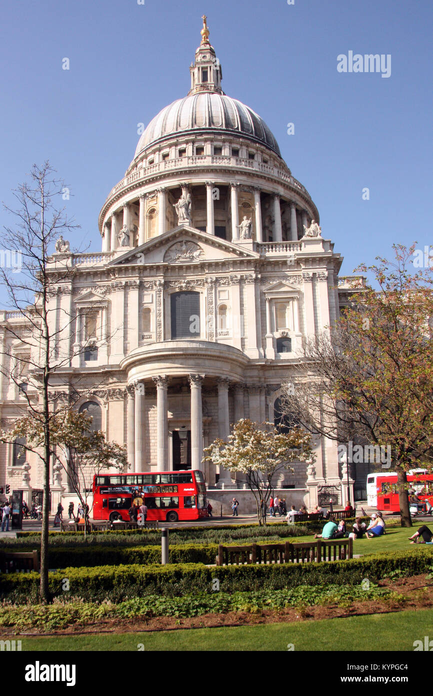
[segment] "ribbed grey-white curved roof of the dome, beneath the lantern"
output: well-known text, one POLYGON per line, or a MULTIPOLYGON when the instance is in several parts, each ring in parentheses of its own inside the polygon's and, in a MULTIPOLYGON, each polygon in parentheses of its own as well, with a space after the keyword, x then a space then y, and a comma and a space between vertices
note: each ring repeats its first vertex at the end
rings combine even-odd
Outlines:
POLYGON ((211 130, 227 131, 256 141, 276 152, 278 143, 272 132, 250 106, 215 92, 202 92, 178 99, 152 118, 138 141, 136 155, 160 140, 177 134, 199 133, 211 130))

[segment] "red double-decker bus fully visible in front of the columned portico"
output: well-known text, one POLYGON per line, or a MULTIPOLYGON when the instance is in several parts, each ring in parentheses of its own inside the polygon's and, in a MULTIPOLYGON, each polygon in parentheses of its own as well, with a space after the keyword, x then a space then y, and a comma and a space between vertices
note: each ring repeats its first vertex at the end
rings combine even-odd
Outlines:
POLYGON ((147 520, 197 520, 208 517, 206 484, 200 470, 93 477, 93 519, 129 520, 132 503, 147 505, 147 520))

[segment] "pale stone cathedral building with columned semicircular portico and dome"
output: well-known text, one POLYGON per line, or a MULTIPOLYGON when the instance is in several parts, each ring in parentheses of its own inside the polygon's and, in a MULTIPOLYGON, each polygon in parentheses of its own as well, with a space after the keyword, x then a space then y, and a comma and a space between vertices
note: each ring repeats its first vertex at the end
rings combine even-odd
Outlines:
MULTIPOLYGON (((106 437, 127 445, 130 470, 193 466, 210 487, 220 477, 231 489, 241 477, 203 465, 203 448, 238 418, 274 420, 303 340, 338 315, 342 258, 316 234, 318 210, 268 126, 224 95, 220 80, 213 47, 202 42, 188 97, 145 129, 101 209, 101 252, 54 255, 58 278, 66 265, 76 272, 59 280, 51 304, 65 364, 53 389, 83 390, 76 408, 93 404, 106 437), (63 310, 73 317, 65 329, 63 310)), ((26 344, 4 327, 27 338, 31 327, 15 313, 0 319, 0 340, 15 356, 3 361, 19 365, 26 344)), ((0 405, 3 426, 25 406, 3 377, 0 405)), ((26 459, 38 489, 38 459, 26 459)), ((13 445, 0 445, 0 484, 17 487, 22 466, 13 445)), ((318 483, 340 484, 336 444, 317 443, 315 466, 318 483)), ((306 481, 299 463, 279 483, 295 489, 297 504, 306 481)))

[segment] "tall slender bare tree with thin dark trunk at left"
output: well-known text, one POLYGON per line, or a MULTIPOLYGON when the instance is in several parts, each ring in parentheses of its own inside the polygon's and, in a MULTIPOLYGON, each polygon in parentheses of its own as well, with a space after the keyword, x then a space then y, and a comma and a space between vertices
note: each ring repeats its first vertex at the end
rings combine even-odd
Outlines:
MULTIPOLYGON (((81 353, 89 347, 88 342, 72 348, 75 315, 64 308, 59 315, 54 301, 59 288, 70 287, 75 273, 69 243, 63 235, 68 237, 78 226, 67 219, 64 207, 56 207, 65 190, 64 182, 56 178, 49 162, 42 167, 33 165, 28 181, 13 191, 17 209, 5 206, 13 214, 15 224, 5 228, 1 237, 3 248, 9 253, 6 260, 10 258, 15 263, 3 263, 0 268, 8 292, 8 309, 13 310, 4 313, 1 323, 0 372, 20 395, 22 406, 15 404, 18 416, 27 414, 42 432, 38 446, 22 445, 25 450, 35 452, 43 470, 41 601, 49 600, 49 463, 55 451, 51 424, 59 411, 66 417, 80 396, 77 382, 72 385, 63 368, 70 366, 74 350, 81 353), (56 255, 55 251, 63 253, 56 255), (60 393, 67 394, 66 403, 61 406, 54 399, 54 385, 60 393)), ((0 441, 15 442, 5 430, 0 441)))

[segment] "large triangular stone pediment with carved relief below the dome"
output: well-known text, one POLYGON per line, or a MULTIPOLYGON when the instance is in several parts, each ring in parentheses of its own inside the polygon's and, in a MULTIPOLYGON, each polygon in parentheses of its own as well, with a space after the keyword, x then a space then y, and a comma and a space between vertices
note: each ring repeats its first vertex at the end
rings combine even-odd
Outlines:
POLYGON ((234 258, 259 258, 252 244, 227 242, 207 232, 186 225, 149 239, 145 244, 129 249, 108 265, 147 265, 163 263, 197 263, 234 258))

